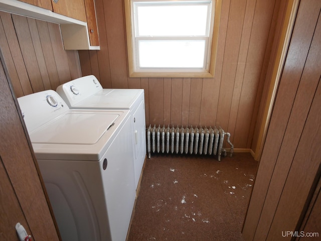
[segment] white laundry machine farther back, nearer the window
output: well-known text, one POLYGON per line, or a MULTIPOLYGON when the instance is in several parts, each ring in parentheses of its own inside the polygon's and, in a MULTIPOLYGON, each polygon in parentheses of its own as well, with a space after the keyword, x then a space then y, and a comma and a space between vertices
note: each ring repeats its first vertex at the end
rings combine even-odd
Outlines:
POLYGON ((88 75, 62 84, 56 91, 72 109, 129 110, 137 188, 146 157, 144 90, 103 89, 94 75, 88 75))

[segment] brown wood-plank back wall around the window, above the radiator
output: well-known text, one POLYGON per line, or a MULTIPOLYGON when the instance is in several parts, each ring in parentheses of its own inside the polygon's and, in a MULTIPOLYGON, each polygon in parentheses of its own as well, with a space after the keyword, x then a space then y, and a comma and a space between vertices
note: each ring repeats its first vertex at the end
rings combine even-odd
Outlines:
POLYGON ((78 51, 104 88, 143 88, 146 125, 221 126, 235 148, 253 135, 283 1, 224 0, 214 78, 129 78, 123 1, 95 0, 100 50, 78 51))

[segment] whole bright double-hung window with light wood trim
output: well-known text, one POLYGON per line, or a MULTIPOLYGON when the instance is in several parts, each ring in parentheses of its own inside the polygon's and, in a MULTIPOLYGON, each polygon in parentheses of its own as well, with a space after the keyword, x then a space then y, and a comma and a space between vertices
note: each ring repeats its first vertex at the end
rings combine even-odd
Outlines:
POLYGON ((213 77, 218 0, 126 0, 130 77, 213 77))

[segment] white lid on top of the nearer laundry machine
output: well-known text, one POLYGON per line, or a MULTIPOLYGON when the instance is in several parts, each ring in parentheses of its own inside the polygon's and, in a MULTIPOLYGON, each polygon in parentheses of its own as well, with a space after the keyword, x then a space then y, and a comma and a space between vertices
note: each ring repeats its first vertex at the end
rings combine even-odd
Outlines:
POLYGON ((68 112, 30 133, 30 139, 33 144, 93 145, 114 124, 118 116, 103 112, 68 112))

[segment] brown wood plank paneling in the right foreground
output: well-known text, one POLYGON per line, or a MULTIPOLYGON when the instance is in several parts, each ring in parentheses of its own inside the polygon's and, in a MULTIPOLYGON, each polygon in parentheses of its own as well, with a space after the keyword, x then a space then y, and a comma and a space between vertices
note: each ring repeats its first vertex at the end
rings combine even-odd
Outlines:
POLYGON ((320 1, 300 1, 244 222, 246 241, 292 240, 282 231, 300 228, 320 179, 320 17, 320 1))

